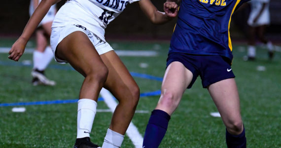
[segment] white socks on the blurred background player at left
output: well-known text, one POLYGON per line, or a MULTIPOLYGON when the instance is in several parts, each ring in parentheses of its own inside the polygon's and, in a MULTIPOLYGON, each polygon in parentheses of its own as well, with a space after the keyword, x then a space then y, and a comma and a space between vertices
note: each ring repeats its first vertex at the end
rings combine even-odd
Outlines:
POLYGON ((54 57, 50 46, 46 47, 44 52, 33 52, 34 69, 44 71, 54 57))

